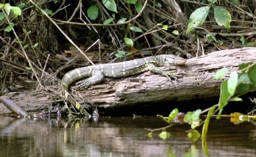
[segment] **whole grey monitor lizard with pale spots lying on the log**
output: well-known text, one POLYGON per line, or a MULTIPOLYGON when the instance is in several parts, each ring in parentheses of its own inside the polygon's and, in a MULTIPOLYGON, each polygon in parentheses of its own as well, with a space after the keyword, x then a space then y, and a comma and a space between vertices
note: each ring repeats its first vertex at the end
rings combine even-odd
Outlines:
POLYGON ((73 88, 86 89, 92 85, 100 83, 104 77, 108 78, 123 78, 126 76, 138 74, 144 71, 152 71, 161 74, 167 79, 177 79, 177 75, 170 71, 164 71, 158 67, 170 65, 184 65, 186 60, 174 55, 158 55, 153 57, 146 57, 135 59, 126 62, 111 63, 111 64, 98 64, 87 67, 81 67, 66 73, 61 81, 62 95, 75 106, 83 116, 91 116, 79 103, 68 93, 68 87, 78 81, 73 88))

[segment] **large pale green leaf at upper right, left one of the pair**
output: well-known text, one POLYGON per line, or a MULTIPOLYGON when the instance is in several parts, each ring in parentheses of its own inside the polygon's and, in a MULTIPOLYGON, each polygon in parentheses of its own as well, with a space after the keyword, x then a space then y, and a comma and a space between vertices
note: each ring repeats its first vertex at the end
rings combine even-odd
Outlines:
POLYGON ((197 26, 201 26, 208 13, 209 13, 209 10, 210 10, 210 7, 209 6, 204 6, 204 7, 201 7, 201 8, 198 8, 196 9, 189 17, 189 21, 188 21, 188 28, 187 28, 187 31, 186 31, 186 35, 191 32, 191 30, 194 28, 194 27, 197 27, 197 26))

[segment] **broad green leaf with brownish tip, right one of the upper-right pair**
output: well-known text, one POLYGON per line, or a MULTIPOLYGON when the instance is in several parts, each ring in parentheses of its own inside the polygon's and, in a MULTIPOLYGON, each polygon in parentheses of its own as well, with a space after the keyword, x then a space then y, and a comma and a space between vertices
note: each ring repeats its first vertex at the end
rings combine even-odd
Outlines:
POLYGON ((218 25, 224 26, 227 30, 230 28, 231 16, 226 9, 214 7, 214 17, 218 25))

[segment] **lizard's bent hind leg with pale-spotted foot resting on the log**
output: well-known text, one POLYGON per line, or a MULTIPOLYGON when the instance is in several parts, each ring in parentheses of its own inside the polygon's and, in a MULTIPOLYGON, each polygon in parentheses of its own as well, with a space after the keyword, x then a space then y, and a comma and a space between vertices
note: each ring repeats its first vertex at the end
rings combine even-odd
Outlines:
POLYGON ((93 70, 92 77, 82 79, 76 82, 76 85, 72 86, 71 88, 76 90, 84 90, 86 88, 89 88, 92 85, 100 83, 103 79, 104 79, 104 76, 101 73, 101 71, 93 70))

